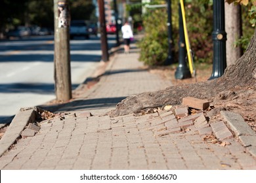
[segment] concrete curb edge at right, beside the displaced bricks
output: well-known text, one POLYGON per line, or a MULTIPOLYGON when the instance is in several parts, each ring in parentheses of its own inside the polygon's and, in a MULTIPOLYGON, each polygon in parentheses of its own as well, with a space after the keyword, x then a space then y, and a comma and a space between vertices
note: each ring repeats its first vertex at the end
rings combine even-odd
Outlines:
POLYGON ((244 121, 244 118, 236 113, 226 110, 221 111, 221 116, 230 129, 234 132, 242 146, 256 158, 256 133, 244 121))

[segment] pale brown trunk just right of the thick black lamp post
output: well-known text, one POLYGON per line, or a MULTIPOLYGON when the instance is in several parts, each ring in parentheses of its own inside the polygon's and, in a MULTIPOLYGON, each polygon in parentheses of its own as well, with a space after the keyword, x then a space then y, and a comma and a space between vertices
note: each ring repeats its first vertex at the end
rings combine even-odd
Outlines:
POLYGON ((241 46, 235 47, 234 42, 242 36, 241 5, 225 3, 226 65, 231 65, 242 56, 241 46))

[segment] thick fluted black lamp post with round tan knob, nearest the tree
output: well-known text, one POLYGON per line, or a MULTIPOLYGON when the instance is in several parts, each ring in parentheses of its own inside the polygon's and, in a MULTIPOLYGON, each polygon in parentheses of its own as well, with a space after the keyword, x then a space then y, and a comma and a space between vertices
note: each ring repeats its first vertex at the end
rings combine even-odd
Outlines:
POLYGON ((219 78, 226 69, 226 32, 224 0, 213 0, 213 73, 211 79, 219 78))

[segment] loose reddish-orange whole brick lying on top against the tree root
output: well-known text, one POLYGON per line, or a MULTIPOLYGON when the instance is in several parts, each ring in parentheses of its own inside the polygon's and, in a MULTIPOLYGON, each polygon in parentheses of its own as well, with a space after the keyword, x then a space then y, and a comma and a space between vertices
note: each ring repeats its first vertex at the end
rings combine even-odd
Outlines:
POLYGON ((184 97, 182 99, 182 105, 187 105, 188 107, 191 107, 191 108, 205 110, 206 108, 209 107, 210 103, 209 101, 202 100, 202 99, 196 99, 193 97, 184 97))

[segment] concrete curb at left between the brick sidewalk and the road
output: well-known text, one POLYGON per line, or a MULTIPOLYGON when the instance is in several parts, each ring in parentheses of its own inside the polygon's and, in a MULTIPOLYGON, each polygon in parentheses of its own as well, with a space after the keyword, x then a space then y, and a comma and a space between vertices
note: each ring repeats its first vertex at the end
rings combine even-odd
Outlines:
POLYGON ((34 122, 39 108, 20 108, 0 140, 0 157, 16 142, 27 124, 34 122))

